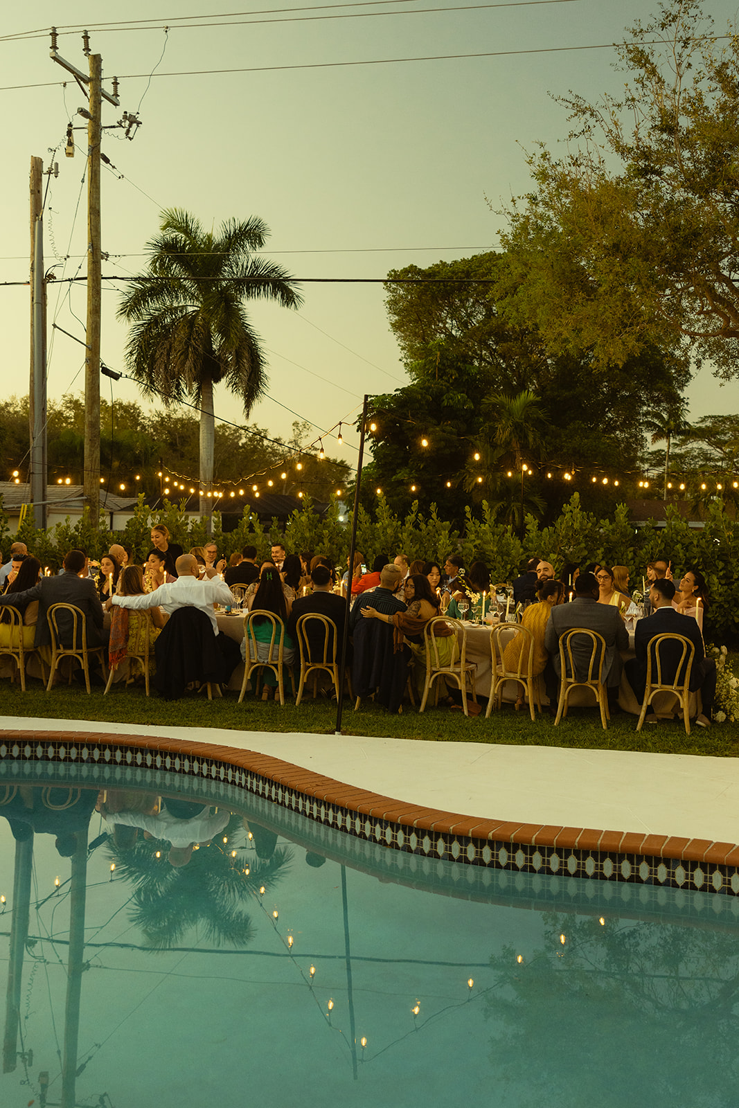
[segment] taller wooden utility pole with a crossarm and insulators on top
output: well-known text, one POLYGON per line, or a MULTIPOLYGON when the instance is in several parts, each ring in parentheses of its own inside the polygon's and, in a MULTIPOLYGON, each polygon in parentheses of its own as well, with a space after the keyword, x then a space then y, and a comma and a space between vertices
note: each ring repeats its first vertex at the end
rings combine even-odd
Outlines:
MULTIPOLYGON (((101 215, 100 215, 100 145, 103 135, 103 99, 115 107, 117 78, 113 79, 113 94, 103 89, 103 61, 90 52, 90 35, 82 35, 84 53, 89 60, 85 74, 57 52, 57 28, 51 29, 51 58, 70 72, 89 99, 89 111, 79 110, 88 120, 88 319, 85 373, 84 373, 84 503, 90 509, 90 522, 100 526, 100 320, 102 299, 101 278, 101 215)), ((120 125, 123 125, 122 123, 120 125)), ((126 137, 131 137, 130 129, 126 137)), ((135 130, 134 130, 135 133, 135 130)))

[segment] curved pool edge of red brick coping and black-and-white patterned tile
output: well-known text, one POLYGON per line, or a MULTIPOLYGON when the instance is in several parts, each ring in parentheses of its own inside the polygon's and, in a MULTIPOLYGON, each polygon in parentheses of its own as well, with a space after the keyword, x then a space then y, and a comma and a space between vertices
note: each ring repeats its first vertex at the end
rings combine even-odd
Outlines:
POLYGON ((164 736, 0 730, 0 763, 37 761, 140 767, 222 782, 431 861, 739 897, 736 843, 475 819, 342 784, 269 755, 164 736))

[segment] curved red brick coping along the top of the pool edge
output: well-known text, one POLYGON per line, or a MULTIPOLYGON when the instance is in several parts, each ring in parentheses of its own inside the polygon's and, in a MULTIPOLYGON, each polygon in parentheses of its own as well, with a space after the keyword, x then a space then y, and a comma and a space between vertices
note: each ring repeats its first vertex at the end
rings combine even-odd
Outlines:
POLYGON ((124 735, 107 731, 0 730, 0 742, 95 742, 100 745, 142 747, 166 753, 195 758, 216 758, 239 769, 258 773, 267 780, 295 789, 326 803, 339 804, 362 815, 388 820, 401 827, 437 833, 453 833, 471 839, 512 842, 524 845, 576 848, 587 851, 609 851, 644 854, 653 858, 706 862, 714 865, 739 866, 739 844, 712 842, 710 839, 686 839, 664 834, 642 834, 628 831, 603 831, 597 828, 558 827, 542 823, 516 823, 491 820, 383 797, 358 786, 345 784, 322 773, 294 766, 281 758, 254 750, 239 750, 187 739, 157 735, 124 735))

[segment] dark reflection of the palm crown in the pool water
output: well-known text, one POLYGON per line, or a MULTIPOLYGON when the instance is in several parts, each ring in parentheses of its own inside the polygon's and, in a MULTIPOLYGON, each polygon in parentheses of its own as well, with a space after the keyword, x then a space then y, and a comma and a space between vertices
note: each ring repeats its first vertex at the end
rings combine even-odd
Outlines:
POLYGON ((140 838, 122 850, 111 838, 109 854, 116 878, 135 886, 131 922, 154 950, 176 946, 193 929, 202 929, 203 937, 214 946, 247 946, 254 940, 255 927, 244 904, 259 897, 261 886, 277 884, 289 869, 292 851, 277 847, 261 859, 243 845, 235 847, 239 833, 242 817, 232 815, 217 839, 194 850, 187 865, 176 869, 167 860, 165 840, 140 838))

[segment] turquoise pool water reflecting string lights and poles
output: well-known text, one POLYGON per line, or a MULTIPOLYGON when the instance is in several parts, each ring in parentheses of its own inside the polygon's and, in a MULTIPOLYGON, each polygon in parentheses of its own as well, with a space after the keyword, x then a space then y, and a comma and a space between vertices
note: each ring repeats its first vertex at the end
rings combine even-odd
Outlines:
POLYGON ((178 806, 172 774, 62 769, 0 780, 3 1108, 737 1102, 726 896, 483 882, 189 781, 178 806), (147 839, 162 794, 154 831, 167 799, 181 823, 147 839))

